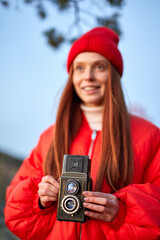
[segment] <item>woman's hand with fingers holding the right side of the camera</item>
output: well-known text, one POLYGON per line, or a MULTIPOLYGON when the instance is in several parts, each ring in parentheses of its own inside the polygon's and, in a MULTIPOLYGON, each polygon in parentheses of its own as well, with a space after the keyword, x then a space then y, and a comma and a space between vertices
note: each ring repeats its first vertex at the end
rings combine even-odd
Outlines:
POLYGON ((85 215, 103 220, 106 222, 112 222, 119 211, 119 202, 115 195, 102 192, 83 192, 84 207, 91 211, 85 211, 85 215))

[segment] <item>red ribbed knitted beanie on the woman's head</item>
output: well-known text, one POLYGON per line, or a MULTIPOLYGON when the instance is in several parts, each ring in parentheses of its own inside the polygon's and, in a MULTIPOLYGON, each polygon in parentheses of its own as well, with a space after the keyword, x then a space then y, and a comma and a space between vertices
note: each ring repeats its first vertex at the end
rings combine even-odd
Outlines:
POLYGON ((68 54, 67 71, 75 57, 82 52, 96 52, 110 60, 122 76, 123 60, 118 50, 119 37, 111 29, 106 27, 96 27, 77 39, 68 54))

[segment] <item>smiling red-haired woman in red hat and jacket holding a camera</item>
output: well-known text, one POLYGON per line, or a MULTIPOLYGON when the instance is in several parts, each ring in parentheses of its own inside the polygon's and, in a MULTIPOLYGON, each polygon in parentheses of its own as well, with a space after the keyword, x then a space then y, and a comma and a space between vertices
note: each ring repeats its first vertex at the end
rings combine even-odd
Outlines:
POLYGON ((7 189, 5 221, 20 239, 160 238, 160 132, 127 112, 118 41, 98 27, 71 47, 56 123, 7 189), (91 158, 83 225, 56 220, 64 154, 91 158))

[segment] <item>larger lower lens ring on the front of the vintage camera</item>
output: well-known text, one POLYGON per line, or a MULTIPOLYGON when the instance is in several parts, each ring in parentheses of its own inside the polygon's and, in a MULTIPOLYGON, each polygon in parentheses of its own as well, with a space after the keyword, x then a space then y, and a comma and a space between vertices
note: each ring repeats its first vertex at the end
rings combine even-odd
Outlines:
POLYGON ((80 200, 76 196, 65 196, 62 199, 62 209, 67 214, 73 214, 80 208, 80 200))

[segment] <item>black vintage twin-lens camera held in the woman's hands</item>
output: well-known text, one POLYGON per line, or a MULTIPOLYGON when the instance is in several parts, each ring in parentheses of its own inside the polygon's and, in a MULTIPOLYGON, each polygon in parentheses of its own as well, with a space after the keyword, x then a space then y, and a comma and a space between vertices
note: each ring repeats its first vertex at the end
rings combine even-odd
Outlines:
POLYGON ((58 193, 57 220, 86 221, 83 191, 91 190, 89 156, 64 155, 58 193))

